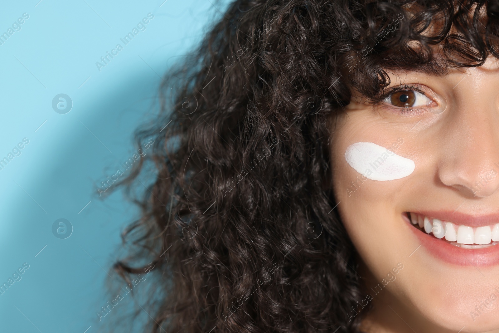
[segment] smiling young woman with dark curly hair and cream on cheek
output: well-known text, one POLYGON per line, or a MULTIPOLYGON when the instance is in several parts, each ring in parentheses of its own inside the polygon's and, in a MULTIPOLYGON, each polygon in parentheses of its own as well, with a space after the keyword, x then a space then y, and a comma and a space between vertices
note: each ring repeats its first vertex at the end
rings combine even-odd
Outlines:
POLYGON ((233 2, 139 133, 157 172, 116 269, 157 277, 147 330, 499 332, 498 23, 233 2))

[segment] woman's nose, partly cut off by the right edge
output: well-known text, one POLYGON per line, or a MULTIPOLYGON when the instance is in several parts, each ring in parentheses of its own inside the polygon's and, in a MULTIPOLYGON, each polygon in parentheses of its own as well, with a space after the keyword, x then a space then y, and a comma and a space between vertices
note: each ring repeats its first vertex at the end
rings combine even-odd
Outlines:
POLYGON ((494 98, 475 95, 462 101, 443 133, 438 177, 470 197, 488 197, 499 189, 499 103, 496 94, 489 96, 494 98))

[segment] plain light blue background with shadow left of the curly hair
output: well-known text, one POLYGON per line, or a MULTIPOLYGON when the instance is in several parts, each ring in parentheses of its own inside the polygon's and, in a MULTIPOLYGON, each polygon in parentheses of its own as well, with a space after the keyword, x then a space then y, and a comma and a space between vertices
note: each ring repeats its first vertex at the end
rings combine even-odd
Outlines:
POLYGON ((228 1, 22 2, 0 11, 0 33, 29 14, 0 45, 0 159, 29 140, 0 170, 0 284, 23 263, 29 269, 0 295, 0 332, 102 332, 105 278, 137 210, 121 193, 99 200, 96 185, 136 151, 132 133, 157 111, 160 75, 228 1), (146 30, 124 46, 120 38, 149 12, 146 30), (99 71, 95 62, 117 43, 123 50, 99 71), (59 93, 71 97, 69 113, 52 109, 59 93), (51 231, 59 218, 74 228, 64 240, 51 231))

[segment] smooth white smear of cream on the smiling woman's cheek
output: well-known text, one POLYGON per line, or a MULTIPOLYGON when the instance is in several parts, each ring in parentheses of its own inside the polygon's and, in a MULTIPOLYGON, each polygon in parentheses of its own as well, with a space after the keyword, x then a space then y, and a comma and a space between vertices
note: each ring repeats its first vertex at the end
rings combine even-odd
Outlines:
POLYGON ((413 173, 414 161, 373 142, 356 142, 345 151, 346 162, 371 180, 395 180, 413 173))

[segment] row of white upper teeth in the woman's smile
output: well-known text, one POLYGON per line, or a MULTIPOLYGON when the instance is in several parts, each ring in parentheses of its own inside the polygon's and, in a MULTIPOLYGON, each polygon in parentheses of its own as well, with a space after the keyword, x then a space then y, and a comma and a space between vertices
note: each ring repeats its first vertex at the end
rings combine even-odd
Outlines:
POLYGON ((444 238, 459 244, 485 245, 499 241, 499 223, 492 226, 472 228, 457 225, 452 222, 430 218, 421 214, 410 213, 411 222, 419 225, 427 234, 437 238, 444 238))

